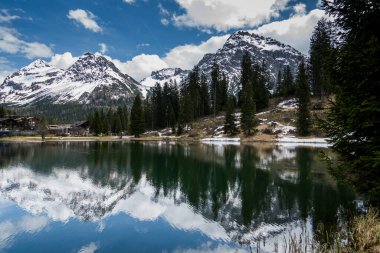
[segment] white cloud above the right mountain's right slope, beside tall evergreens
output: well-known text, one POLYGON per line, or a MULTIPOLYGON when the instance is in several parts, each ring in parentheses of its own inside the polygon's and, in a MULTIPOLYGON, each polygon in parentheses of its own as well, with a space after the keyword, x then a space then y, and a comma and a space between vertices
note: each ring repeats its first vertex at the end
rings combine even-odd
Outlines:
POLYGON ((308 14, 294 15, 286 20, 263 25, 252 32, 272 37, 307 54, 311 34, 322 17, 327 17, 325 12, 315 9, 308 14))

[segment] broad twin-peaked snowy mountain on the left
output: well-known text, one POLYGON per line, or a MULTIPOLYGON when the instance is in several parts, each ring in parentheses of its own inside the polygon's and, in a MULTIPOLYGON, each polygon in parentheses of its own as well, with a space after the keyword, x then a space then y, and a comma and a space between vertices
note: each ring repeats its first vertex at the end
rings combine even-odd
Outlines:
POLYGON ((86 53, 65 71, 43 60, 34 61, 4 80, 0 101, 19 106, 37 102, 103 105, 128 102, 142 91, 137 81, 105 57, 86 53))

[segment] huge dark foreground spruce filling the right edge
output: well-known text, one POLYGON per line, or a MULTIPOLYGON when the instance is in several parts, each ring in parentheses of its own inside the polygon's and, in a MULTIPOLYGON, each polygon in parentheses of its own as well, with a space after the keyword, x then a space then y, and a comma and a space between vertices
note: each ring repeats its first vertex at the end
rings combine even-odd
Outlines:
POLYGON ((380 4, 323 1, 343 43, 333 67, 335 102, 321 127, 340 155, 335 172, 380 205, 380 4))

